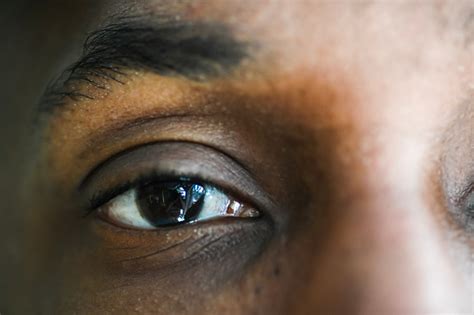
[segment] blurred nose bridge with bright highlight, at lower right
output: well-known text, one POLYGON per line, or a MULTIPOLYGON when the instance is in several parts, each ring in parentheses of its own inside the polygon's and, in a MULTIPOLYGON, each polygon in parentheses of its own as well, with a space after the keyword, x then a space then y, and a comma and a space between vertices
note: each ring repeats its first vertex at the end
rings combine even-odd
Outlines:
POLYGON ((406 150, 379 155, 347 186, 353 197, 328 209, 330 226, 306 291, 313 308, 351 314, 469 309, 423 198, 417 160, 406 150))

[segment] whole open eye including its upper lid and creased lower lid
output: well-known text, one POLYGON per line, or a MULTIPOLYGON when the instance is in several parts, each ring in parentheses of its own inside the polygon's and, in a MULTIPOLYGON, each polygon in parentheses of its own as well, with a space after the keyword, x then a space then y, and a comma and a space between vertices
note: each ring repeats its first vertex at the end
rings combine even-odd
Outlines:
MULTIPOLYGON (((161 275, 189 264, 215 272, 216 255, 243 268, 274 232, 275 203, 253 174, 200 143, 123 150, 99 162, 79 193, 96 243, 106 245, 101 255, 122 274, 161 275)), ((231 274, 222 268, 222 276, 231 274)))

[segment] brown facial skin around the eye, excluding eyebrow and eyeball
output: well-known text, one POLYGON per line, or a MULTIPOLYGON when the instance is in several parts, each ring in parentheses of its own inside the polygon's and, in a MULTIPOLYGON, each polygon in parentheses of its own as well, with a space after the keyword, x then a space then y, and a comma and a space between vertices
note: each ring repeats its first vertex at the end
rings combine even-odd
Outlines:
MULTIPOLYGON (((473 30, 459 22, 469 5, 169 8, 258 45, 226 76, 134 72, 105 93, 83 87, 94 100, 54 113, 32 180, 27 304, 87 314, 472 311, 473 231, 453 218, 450 202, 474 178, 473 46, 465 40, 473 30), (96 190, 137 176, 111 166, 78 192, 92 169, 168 141, 239 161, 266 197, 223 185, 250 203, 264 199, 265 216, 151 232, 81 218, 96 190)), ((178 150, 170 159, 206 163, 203 154, 178 150)), ((206 176, 220 184, 224 168, 206 176)))

